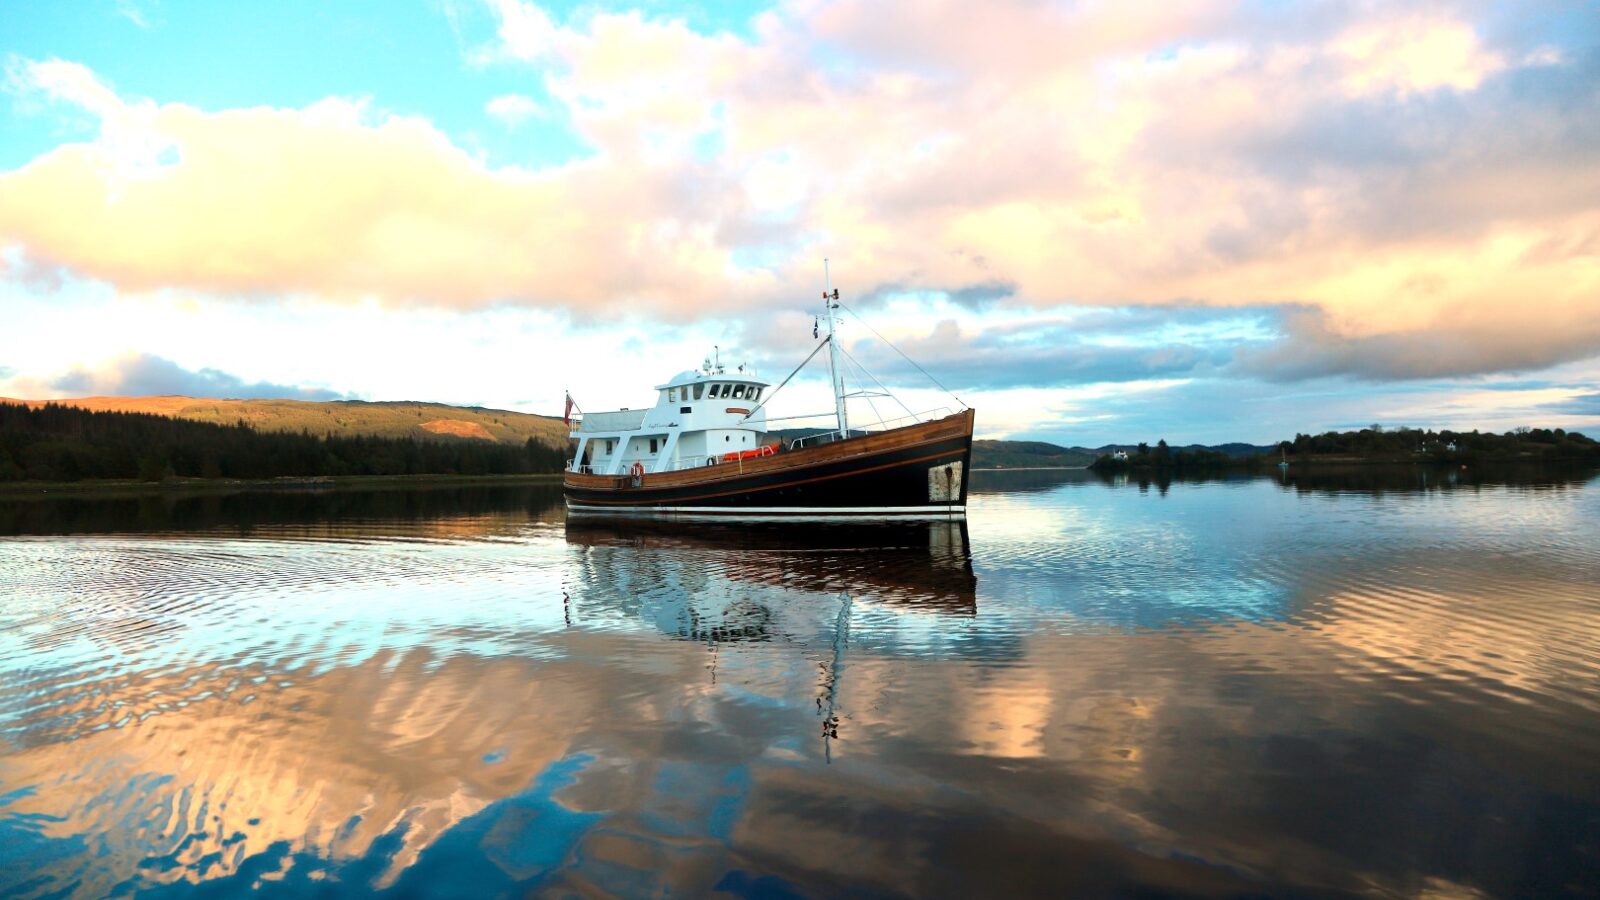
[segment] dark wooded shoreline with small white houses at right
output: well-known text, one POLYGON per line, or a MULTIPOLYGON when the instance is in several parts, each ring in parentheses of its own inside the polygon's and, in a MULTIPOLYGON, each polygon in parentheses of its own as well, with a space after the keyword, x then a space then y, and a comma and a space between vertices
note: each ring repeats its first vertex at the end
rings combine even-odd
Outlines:
POLYGON ((1517 460, 1600 460, 1600 442, 1560 428, 1518 428, 1504 434, 1480 431, 1429 431, 1382 426, 1360 431, 1296 434, 1261 456, 1229 456, 1216 450, 1173 450, 1165 440, 1139 444, 1126 458, 1104 455, 1093 469, 1102 472, 1158 469, 1203 472, 1226 468, 1261 469, 1293 463, 1488 463, 1517 460))

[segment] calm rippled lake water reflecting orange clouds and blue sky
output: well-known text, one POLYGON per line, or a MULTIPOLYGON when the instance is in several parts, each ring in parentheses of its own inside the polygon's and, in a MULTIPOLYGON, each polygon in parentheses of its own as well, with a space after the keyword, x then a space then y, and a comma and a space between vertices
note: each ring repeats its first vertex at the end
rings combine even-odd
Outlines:
POLYGON ((0 501, 0 895, 1600 894, 1600 480, 0 501))

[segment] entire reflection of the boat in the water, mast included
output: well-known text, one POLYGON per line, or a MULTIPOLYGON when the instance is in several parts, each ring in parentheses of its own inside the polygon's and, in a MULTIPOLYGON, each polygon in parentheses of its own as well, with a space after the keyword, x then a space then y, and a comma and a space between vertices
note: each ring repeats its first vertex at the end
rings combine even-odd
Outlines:
POLYGON ((568 583, 568 623, 653 621, 664 634, 706 644, 714 682, 723 645, 808 649, 819 673, 816 714, 829 762, 850 717, 840 685, 851 647, 923 657, 973 650, 962 642, 965 626, 938 620, 978 615, 965 522, 802 530, 715 522, 685 530, 656 520, 568 519, 566 541, 581 551, 578 578, 568 583), (610 602, 594 605, 597 597, 610 602), (859 641, 851 626, 858 601, 877 607, 859 641))

